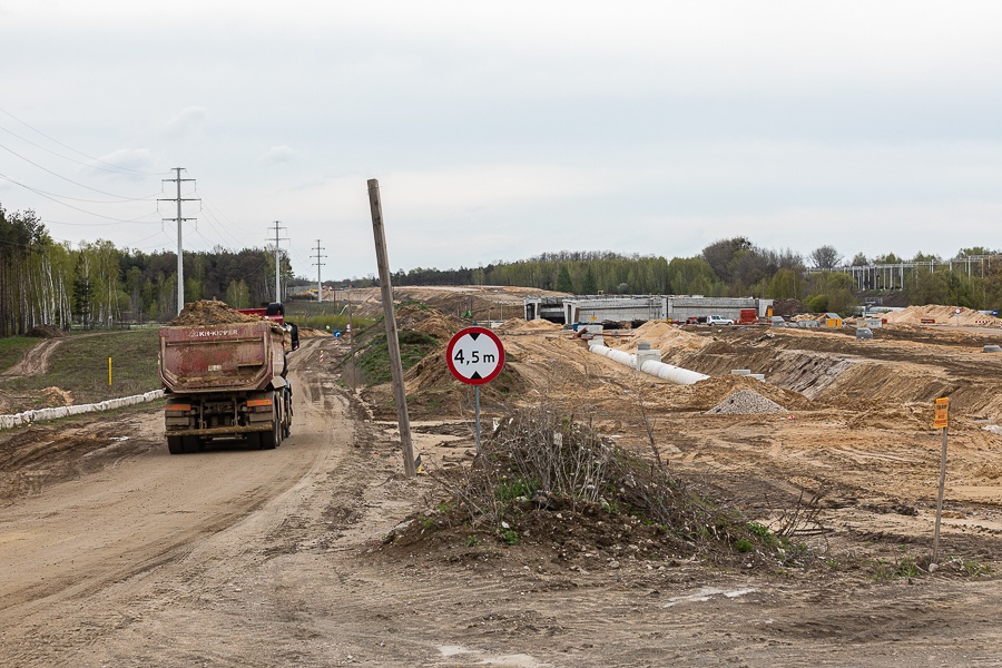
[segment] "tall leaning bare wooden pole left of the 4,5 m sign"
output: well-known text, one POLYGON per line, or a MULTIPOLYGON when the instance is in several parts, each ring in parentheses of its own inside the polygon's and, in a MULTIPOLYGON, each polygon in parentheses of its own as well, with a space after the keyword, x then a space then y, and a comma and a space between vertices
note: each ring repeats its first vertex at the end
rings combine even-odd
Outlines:
MULTIPOLYGON (((376 244, 376 264, 380 266, 380 292, 383 297, 383 320, 386 323, 386 347, 390 350, 390 374, 393 376, 393 399, 396 402, 396 421, 400 424, 400 446, 403 450, 404 473, 418 475, 414 465, 414 446, 411 441, 411 419, 407 415, 407 394, 400 361, 400 340, 396 337, 396 314, 393 313, 393 286, 390 284, 390 262, 386 259, 386 234, 383 230, 383 204, 380 202, 380 181, 369 179, 369 207, 372 210, 372 235, 376 244)), ((354 332, 352 332, 354 336, 354 332)))

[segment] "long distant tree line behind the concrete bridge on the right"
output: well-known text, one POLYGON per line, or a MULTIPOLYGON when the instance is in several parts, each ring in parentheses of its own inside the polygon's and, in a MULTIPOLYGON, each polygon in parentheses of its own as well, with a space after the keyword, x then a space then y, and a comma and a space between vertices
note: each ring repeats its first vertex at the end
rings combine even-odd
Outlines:
MULTIPOLYGON (((917 254, 907 262, 929 263, 908 271, 903 301, 911 304, 956 304, 971 308, 1002 305, 1002 255, 983 247, 963 248, 956 259, 986 257, 979 272, 951 271, 936 256, 917 254), (992 258, 996 258, 992 262, 992 258)), ((905 262, 893 253, 867 258, 857 253, 852 265, 905 262)), ((849 313, 861 303, 853 277, 836 271, 845 259, 833 246, 819 246, 807 257, 774 250, 746 237, 720 239, 694 257, 560 252, 497 263, 485 267, 416 268, 393 274, 394 285, 520 285, 576 294, 700 294, 794 298, 812 311, 849 313), (808 272, 807 269, 816 269, 808 272), (819 269, 819 271, 817 271, 819 269)), ((375 283, 354 279, 355 285, 375 283)))

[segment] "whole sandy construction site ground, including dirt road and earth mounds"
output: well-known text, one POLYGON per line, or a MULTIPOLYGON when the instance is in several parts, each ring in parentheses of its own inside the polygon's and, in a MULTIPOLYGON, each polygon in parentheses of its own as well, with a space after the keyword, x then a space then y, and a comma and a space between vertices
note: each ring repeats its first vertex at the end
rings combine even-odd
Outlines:
MULTIPOLYGON (((333 297, 382 313, 377 288, 333 297)), ((1000 665, 998 318, 777 327, 767 301, 610 315, 603 296, 505 287, 395 301, 415 479, 382 323, 301 327, 274 451, 170 456, 163 406, 0 431, 0 661, 1000 665), (728 310, 756 322, 685 324, 728 310), (480 391, 487 454, 445 356, 473 322, 504 347, 480 391), (527 434, 523 460, 499 450, 527 434), (550 446, 578 458, 579 495, 518 473, 550 446), (478 497, 490 458, 509 468, 478 497)))

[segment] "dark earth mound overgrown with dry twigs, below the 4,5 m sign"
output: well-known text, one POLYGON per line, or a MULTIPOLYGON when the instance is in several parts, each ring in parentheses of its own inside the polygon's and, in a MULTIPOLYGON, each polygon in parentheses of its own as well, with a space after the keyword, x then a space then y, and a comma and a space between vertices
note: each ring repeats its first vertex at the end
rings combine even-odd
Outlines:
POLYGON ((481 455, 430 473, 438 493, 429 508, 391 531, 379 553, 475 562, 501 550, 570 570, 678 566, 699 554, 746 571, 797 566, 803 556, 659 462, 543 409, 505 416, 481 455))

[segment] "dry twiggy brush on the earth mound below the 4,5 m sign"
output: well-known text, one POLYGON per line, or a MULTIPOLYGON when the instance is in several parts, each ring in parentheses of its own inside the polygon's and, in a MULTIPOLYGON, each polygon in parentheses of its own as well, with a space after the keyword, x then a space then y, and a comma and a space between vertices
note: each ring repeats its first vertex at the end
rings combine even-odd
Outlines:
POLYGON ((501 422, 470 466, 434 471, 452 517, 471 528, 517 523, 524 512, 560 510, 630 515, 696 551, 747 538, 740 513, 689 490, 652 460, 627 452, 590 424, 546 406, 501 422))

